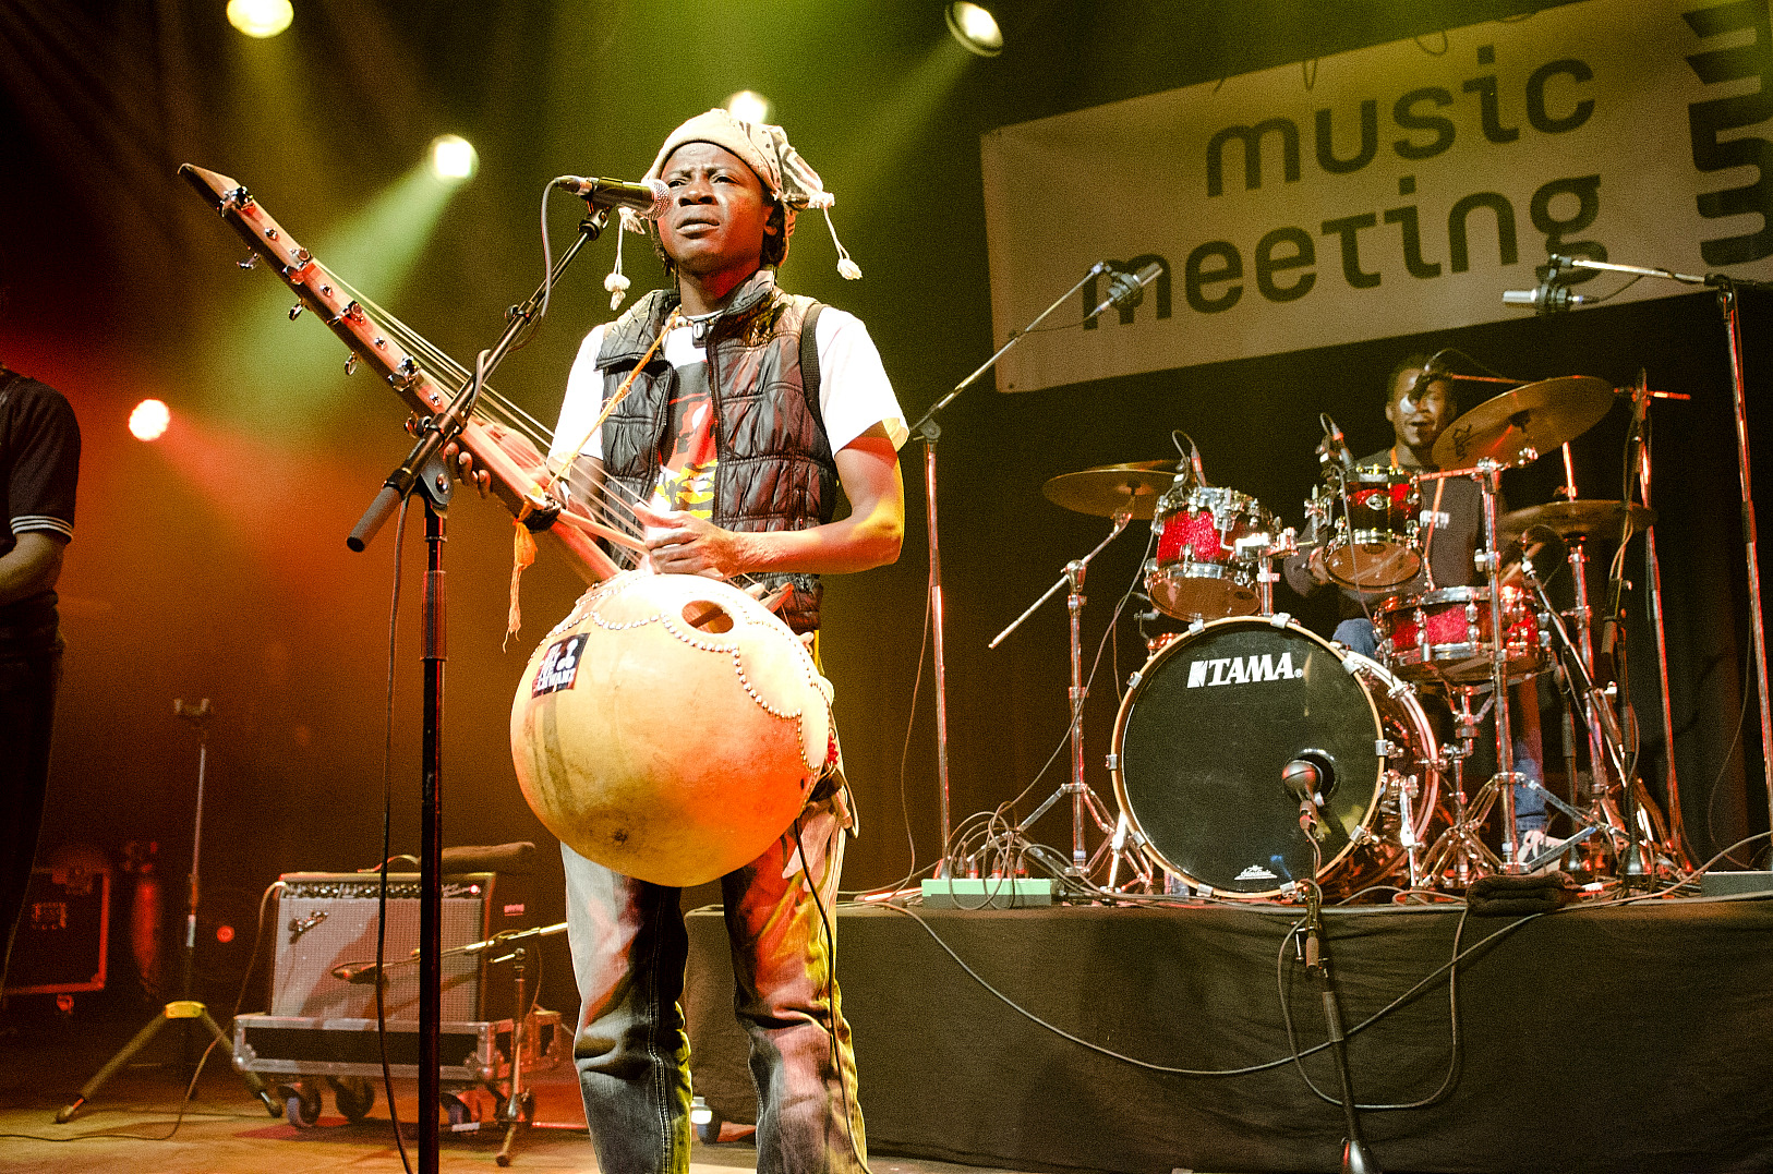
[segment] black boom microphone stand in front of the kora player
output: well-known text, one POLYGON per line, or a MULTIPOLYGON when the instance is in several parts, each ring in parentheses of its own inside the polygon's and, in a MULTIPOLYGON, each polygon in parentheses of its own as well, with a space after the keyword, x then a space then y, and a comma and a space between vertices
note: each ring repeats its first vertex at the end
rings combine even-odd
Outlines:
POLYGON ((566 271, 580 250, 598 239, 608 222, 608 209, 598 209, 580 222, 578 239, 562 254, 544 284, 535 287, 528 301, 505 312, 505 332, 489 351, 480 351, 473 376, 463 385, 449 406, 418 424, 418 443, 406 459, 388 474, 376 500, 358 520, 346 546, 362 552, 381 530, 394 509, 415 489, 426 497, 426 605, 424 605, 424 729, 420 747, 418 794, 418 1169, 436 1174, 438 1117, 441 1087, 441 1020, 443 1020, 443 661, 447 631, 443 624, 443 541, 445 514, 452 482, 443 465, 443 445, 461 434, 468 413, 493 369, 505 358, 528 326, 541 317, 543 291, 566 271))

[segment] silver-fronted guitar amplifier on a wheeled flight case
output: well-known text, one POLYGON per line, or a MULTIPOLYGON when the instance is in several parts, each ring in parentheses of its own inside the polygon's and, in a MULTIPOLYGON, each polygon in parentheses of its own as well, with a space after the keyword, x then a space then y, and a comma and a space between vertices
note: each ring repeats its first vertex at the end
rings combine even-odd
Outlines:
MULTIPOLYGON (((349 982, 335 968, 376 961, 376 908, 381 880, 374 873, 287 873, 277 912, 277 954, 271 970, 271 1014, 319 1020, 374 1020, 376 984, 349 982)), ((443 878, 443 1020, 509 1018, 512 990, 495 972, 488 952, 450 954, 450 947, 484 942, 495 933, 527 929, 528 878, 459 873, 443 878)), ((383 1007, 390 1020, 418 1018, 418 873, 388 873, 388 929, 383 949, 383 1007)))

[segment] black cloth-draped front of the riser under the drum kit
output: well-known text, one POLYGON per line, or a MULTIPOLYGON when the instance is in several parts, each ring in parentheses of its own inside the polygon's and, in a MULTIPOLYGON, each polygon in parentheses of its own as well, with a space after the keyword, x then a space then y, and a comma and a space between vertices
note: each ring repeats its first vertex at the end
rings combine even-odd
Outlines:
MULTIPOLYGON (((1321 991, 1294 956, 1301 917, 844 908, 871 1146, 1043 1170, 1335 1170, 1344 1117, 1321 991)), ((1324 920, 1383 1169, 1773 1170, 1773 901, 1324 920)), ((748 1119, 718 912, 690 929, 697 1089, 748 1119)))

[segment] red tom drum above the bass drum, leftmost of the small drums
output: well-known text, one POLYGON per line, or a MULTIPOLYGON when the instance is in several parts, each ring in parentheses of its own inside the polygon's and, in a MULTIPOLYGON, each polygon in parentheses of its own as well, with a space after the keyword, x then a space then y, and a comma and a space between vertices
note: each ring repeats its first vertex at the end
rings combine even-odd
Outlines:
POLYGON ((1145 591, 1177 619, 1250 615, 1271 520, 1255 498, 1216 486, 1184 488, 1181 477, 1158 498, 1151 521, 1158 557, 1145 566, 1145 591))

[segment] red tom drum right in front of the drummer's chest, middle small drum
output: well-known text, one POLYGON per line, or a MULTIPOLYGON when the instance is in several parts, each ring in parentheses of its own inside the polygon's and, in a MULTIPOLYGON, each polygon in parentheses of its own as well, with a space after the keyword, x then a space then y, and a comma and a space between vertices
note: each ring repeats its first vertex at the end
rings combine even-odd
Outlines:
POLYGON ((1356 468, 1346 484, 1326 484, 1307 505, 1328 536, 1324 571, 1344 587, 1385 591, 1422 569, 1417 511, 1422 495, 1401 468, 1356 468))

